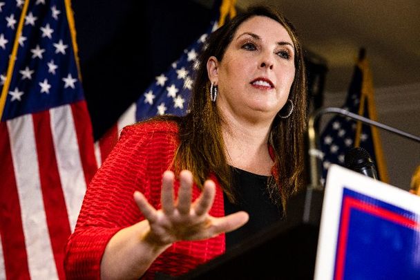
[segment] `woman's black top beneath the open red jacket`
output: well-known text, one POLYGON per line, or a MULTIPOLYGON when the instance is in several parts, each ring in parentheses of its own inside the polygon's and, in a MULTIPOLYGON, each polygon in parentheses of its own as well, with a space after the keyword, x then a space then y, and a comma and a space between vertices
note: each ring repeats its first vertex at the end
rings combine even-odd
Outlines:
POLYGON ((269 179, 269 176, 233 168, 233 184, 236 189, 237 203, 230 203, 224 194, 225 216, 243 210, 249 214, 249 221, 238 230, 226 234, 226 250, 235 247, 249 236, 282 218, 281 206, 274 204, 269 198, 267 191, 269 179))

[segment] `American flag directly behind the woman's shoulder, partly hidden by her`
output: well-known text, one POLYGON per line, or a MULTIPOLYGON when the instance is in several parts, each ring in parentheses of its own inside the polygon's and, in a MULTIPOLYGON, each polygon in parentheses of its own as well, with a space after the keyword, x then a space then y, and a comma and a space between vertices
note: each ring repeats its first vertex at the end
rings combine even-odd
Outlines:
POLYGON ((205 45, 207 37, 216 28, 217 23, 211 22, 209 30, 186 48, 181 57, 173 62, 166 72, 155 77, 155 80, 142 93, 137 102, 131 104, 117 123, 95 143, 98 162, 105 160, 117 142, 122 128, 126 125, 146 120, 155 115, 184 115, 187 113, 198 55, 205 45))

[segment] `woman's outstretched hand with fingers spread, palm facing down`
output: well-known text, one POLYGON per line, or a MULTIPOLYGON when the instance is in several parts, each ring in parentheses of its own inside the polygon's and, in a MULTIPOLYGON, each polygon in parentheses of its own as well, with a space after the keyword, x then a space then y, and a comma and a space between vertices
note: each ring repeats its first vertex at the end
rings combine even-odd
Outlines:
POLYGON ((176 241, 208 239, 222 232, 236 230, 247 223, 246 212, 236 212, 216 218, 209 215, 216 194, 216 185, 207 180, 200 196, 191 203, 193 175, 184 170, 180 173, 178 199, 173 194, 175 175, 172 171, 163 174, 162 209, 155 209, 140 192, 134 193, 134 200, 147 221, 150 230, 144 239, 155 245, 169 245, 176 241))

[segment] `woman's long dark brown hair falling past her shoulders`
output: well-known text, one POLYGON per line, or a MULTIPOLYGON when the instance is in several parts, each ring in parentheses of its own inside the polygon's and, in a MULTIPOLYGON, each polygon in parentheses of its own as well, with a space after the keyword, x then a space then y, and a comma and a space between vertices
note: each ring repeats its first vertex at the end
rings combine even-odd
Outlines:
MULTIPOLYGON (((255 6, 240 13, 224 26, 214 31, 198 58, 189 113, 184 117, 164 116, 158 119, 175 120, 180 129, 180 145, 175 151, 175 171, 189 169, 195 183, 202 184, 213 172, 231 202, 236 201, 232 187, 232 168, 225 156, 225 142, 222 137, 222 115, 216 102, 210 99, 210 81, 207 75, 207 60, 212 55, 222 61, 227 46, 231 43, 238 27, 247 19, 256 16, 269 17, 278 21, 289 33, 295 48, 295 77, 289 93, 294 110, 289 118, 276 116, 269 133, 269 144, 274 156, 271 174, 275 180, 267 182, 269 194, 278 205, 286 209, 287 198, 303 186, 304 176, 304 133, 306 128, 307 86, 303 51, 292 24, 280 13, 265 6, 255 6)), ((287 102, 289 103, 289 102, 287 102)), ((287 106, 284 106, 287 107, 287 106)), ((289 108, 280 110, 280 115, 289 108)), ((156 120, 156 118, 155 118, 156 120)))

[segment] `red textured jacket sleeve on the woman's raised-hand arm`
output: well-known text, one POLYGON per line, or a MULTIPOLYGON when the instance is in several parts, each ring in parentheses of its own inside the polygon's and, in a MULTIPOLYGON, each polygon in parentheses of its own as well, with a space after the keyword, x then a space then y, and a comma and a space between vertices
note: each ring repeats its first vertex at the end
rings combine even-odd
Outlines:
POLYGON ((64 265, 68 279, 99 279, 100 261, 108 241, 122 228, 143 219, 133 200, 135 190, 159 206, 160 189, 156 188, 160 187, 162 173, 171 161, 168 152, 171 147, 158 147, 168 146, 170 137, 168 131, 154 131, 151 126, 137 124, 124 128, 117 145, 91 181, 75 232, 66 246, 64 265), (159 154, 159 150, 166 155, 159 154), (158 170, 154 178, 148 171, 151 156, 162 156, 162 165, 155 166, 158 170), (151 188, 151 183, 157 187, 151 188))

